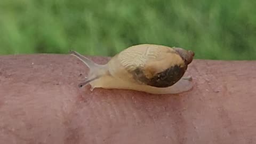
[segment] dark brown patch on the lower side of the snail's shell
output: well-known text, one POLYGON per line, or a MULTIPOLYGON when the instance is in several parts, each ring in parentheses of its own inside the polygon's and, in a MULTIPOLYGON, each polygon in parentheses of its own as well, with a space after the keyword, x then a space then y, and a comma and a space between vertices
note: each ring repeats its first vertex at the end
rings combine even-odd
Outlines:
POLYGON ((147 78, 141 68, 137 68, 133 71, 133 77, 138 82, 154 87, 169 87, 177 83, 180 78, 185 74, 187 66, 180 67, 174 65, 161 73, 157 73, 153 78, 147 78))

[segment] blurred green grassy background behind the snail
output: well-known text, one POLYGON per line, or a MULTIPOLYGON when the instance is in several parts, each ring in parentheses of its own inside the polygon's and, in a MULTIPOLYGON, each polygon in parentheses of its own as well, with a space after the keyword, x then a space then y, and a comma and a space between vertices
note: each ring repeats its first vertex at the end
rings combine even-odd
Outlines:
POLYGON ((141 43, 255 60, 256 1, 1 0, 0 54, 113 56, 141 43))

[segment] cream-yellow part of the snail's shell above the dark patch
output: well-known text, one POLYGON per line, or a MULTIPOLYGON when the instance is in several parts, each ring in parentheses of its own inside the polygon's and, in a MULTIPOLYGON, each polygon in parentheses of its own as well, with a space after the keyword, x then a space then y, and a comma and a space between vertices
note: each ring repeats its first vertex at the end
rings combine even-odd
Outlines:
MULTIPOLYGON (((130 82, 135 82, 127 71, 133 71, 138 67, 144 69, 154 68, 154 73, 159 73, 173 65, 184 65, 181 57, 170 47, 162 45, 141 44, 129 47, 115 55, 109 62, 108 68, 111 76, 124 77, 130 82)), ((146 70, 147 71, 147 70, 146 70)), ((149 70, 148 70, 149 71, 149 70)), ((147 74, 151 77, 153 74, 147 74)))

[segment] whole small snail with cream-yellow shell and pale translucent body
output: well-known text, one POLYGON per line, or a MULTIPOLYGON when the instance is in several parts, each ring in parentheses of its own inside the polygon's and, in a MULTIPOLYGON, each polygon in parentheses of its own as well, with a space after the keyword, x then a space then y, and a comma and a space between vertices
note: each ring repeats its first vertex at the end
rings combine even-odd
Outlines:
POLYGON ((124 89, 152 94, 177 94, 190 90, 191 76, 183 77, 195 53, 179 47, 139 44, 116 54, 105 65, 70 51, 89 67, 86 81, 79 84, 104 89, 124 89))

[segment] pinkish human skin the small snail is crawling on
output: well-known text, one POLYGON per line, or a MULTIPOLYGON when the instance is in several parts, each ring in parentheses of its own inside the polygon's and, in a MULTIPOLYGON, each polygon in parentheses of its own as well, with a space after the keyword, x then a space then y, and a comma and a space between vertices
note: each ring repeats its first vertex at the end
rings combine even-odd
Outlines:
POLYGON ((255 71, 256 61, 193 60, 185 93, 91 92, 71 55, 2 55, 0 143, 255 143, 255 71))

